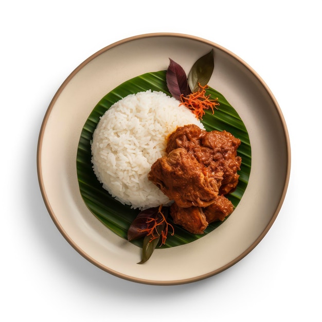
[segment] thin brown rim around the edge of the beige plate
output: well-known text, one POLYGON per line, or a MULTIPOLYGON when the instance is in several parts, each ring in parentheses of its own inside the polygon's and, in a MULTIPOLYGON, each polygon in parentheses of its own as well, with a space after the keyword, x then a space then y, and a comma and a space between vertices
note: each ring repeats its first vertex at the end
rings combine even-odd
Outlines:
POLYGON ((288 132, 287 124, 286 124, 285 119, 283 117, 281 108, 280 108, 276 98, 274 97, 273 93, 271 92, 269 86, 267 86, 267 84, 262 80, 262 78, 257 74, 257 72, 251 66, 249 66, 245 61, 243 61, 235 53, 231 52, 230 50, 226 49, 225 47, 223 47, 223 46, 221 46, 221 45, 219 45, 217 43, 214 43, 212 41, 197 37, 195 35, 189 35, 189 34, 185 34, 185 33, 156 32, 156 33, 144 33, 144 34, 135 35, 135 36, 124 38, 122 40, 114 42, 114 43, 112 43, 112 44, 110 44, 108 46, 105 46, 102 49, 100 49, 100 50, 96 51, 95 53, 93 53, 93 55, 91 55, 87 59, 85 59, 73 71, 71 71, 71 73, 63 81, 63 83, 59 86, 57 92, 55 93, 55 95, 51 99, 51 101, 50 101, 50 103, 48 105, 48 108, 47 108, 47 110, 45 112, 42 124, 41 124, 40 132, 39 132, 39 138, 38 138, 38 144, 37 144, 37 175, 38 175, 38 181, 39 181, 39 186, 40 186, 40 190, 41 190, 41 195, 42 195, 43 201, 45 203, 45 206, 47 208, 47 211, 48 211, 52 221, 55 223, 56 227, 58 228, 60 233, 63 235, 63 237, 66 239, 66 241, 81 256, 83 256, 85 259, 87 259, 88 261, 90 261, 92 264, 96 265, 97 267, 99 267, 103 271, 108 272, 108 273, 110 273, 110 274, 112 274, 112 275, 114 275, 116 277, 120 277, 120 278, 125 279, 125 280, 139 282, 139 283, 143 283, 143 284, 177 285, 177 284, 190 283, 190 282, 202 280, 202 279, 208 278, 210 276, 216 275, 218 273, 221 273, 221 272, 225 271, 226 269, 228 269, 229 267, 231 267, 232 265, 234 265, 237 262, 239 262, 242 258, 244 258, 247 254, 249 254, 260 243, 260 241, 264 238, 264 236, 267 234, 267 232, 271 229, 273 223, 275 222, 275 220, 276 220, 276 218, 278 216, 278 213, 280 212, 280 209, 281 209, 282 204, 284 202, 285 196, 287 194, 289 181, 290 181, 290 173, 291 173, 291 145, 290 145, 289 132, 288 132), (41 164, 42 142, 43 142, 44 132, 45 132, 45 129, 46 129, 46 124, 48 122, 48 118, 49 118, 50 113, 51 113, 51 111, 53 109, 53 106, 55 106, 55 103, 56 103, 58 97, 60 96, 60 94, 62 93, 62 91, 66 87, 66 85, 70 82, 70 80, 73 79, 74 76, 78 73, 78 71, 81 70, 85 65, 90 63, 92 60, 94 60, 96 57, 98 57, 99 55, 101 55, 105 51, 108 51, 108 50, 110 50, 110 49, 112 49, 114 47, 117 47, 117 46, 122 45, 122 44, 127 43, 127 42, 135 41, 135 40, 140 40, 140 39, 144 39, 144 38, 155 38, 155 37, 185 38, 185 39, 189 39, 189 40, 202 42, 204 44, 208 44, 208 45, 213 46, 213 47, 215 47, 215 48, 217 48, 219 50, 224 51, 227 55, 229 55, 232 58, 236 59, 239 63, 241 63, 244 67, 246 67, 246 69, 251 71, 253 76, 264 87, 264 90, 270 96, 270 98, 272 99, 272 101, 274 103, 274 106, 276 108, 276 112, 278 113, 279 119, 281 121, 282 130, 283 130, 284 139, 285 139, 285 145, 286 145, 286 148, 287 148, 287 151, 286 151, 287 164, 286 164, 286 171, 285 171, 285 180, 284 180, 284 186, 283 186, 283 189, 282 189, 282 193, 280 195, 279 203, 278 203, 278 205, 276 207, 276 210, 275 210, 274 214, 272 215, 272 218, 271 218, 270 222, 266 225, 265 229, 262 231, 262 233, 259 235, 259 237, 247 249, 245 249, 245 251, 243 253, 241 253, 234 260, 230 261, 229 263, 225 264, 224 266, 220 267, 219 269, 211 271, 211 272, 208 272, 206 274, 195 276, 195 277, 192 277, 192 278, 186 278, 186 279, 180 279, 180 280, 171 280, 171 281, 145 280, 145 279, 142 279, 142 278, 128 276, 126 274, 117 272, 115 270, 112 270, 109 267, 106 267, 106 266, 102 265, 100 262, 98 262, 97 260, 92 258, 89 254, 85 253, 83 251, 83 249, 81 249, 81 247, 79 247, 73 240, 71 240, 68 237, 68 234, 66 233, 64 227, 62 227, 62 225, 59 223, 58 219, 56 218, 56 215, 55 215, 54 211, 50 207, 49 198, 48 198, 48 196, 46 194, 45 187, 44 187, 44 181, 43 181, 43 176, 42 176, 42 164, 41 164))

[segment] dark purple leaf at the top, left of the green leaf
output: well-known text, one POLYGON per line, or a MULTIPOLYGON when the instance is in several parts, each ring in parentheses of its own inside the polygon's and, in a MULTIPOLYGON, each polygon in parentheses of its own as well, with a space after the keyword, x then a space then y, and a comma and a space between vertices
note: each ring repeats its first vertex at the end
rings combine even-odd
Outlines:
POLYGON ((184 69, 171 58, 166 74, 168 90, 171 95, 180 100, 181 94, 187 96, 190 94, 187 75, 184 69))

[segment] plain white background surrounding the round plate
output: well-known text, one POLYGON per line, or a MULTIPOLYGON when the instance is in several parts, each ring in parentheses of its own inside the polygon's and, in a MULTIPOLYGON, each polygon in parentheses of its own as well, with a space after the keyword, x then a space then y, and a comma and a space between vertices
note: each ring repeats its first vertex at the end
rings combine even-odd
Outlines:
POLYGON ((2 2, 1 320, 320 321, 321 31, 314 0, 2 2), (50 219, 36 168, 41 123, 65 78, 99 49, 151 32, 195 35, 251 65, 292 148, 288 193, 260 244, 216 276, 164 287, 81 257, 50 219))

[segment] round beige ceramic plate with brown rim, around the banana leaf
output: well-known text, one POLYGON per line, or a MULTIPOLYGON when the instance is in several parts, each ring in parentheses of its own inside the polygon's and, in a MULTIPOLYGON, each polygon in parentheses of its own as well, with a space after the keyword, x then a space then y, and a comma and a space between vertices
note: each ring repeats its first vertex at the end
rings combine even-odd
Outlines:
POLYGON ((261 241, 280 210, 290 175, 287 127, 274 96, 234 53, 185 34, 132 37, 96 52, 65 80, 49 105, 38 143, 38 176, 52 220, 88 261, 118 277, 147 284, 182 284, 220 273, 261 241), (116 236, 85 206, 76 154, 83 125, 98 101, 120 83, 165 70, 169 57, 190 70, 214 49, 209 81, 241 116, 252 146, 249 183, 234 214, 211 234, 187 245, 156 249, 142 265, 141 249, 116 236))

